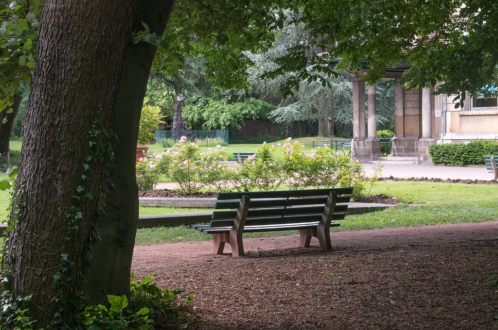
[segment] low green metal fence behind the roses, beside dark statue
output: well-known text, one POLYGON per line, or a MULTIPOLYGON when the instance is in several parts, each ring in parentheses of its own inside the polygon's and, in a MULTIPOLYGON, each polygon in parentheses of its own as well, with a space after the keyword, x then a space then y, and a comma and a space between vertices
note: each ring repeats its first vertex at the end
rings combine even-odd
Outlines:
POLYGON ((162 144, 164 148, 171 147, 180 140, 182 136, 189 141, 197 142, 201 146, 215 147, 217 145, 228 146, 228 130, 184 130, 181 132, 156 131, 156 143, 162 144))

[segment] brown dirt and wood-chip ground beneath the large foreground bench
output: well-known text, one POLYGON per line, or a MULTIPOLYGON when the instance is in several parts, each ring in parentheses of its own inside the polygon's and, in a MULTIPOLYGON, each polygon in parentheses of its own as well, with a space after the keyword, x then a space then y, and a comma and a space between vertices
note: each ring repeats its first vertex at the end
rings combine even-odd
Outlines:
MULTIPOLYGON (((132 272, 193 293, 188 329, 498 329, 498 221, 136 246, 132 272)), ((175 329, 175 328, 164 328, 175 329)))

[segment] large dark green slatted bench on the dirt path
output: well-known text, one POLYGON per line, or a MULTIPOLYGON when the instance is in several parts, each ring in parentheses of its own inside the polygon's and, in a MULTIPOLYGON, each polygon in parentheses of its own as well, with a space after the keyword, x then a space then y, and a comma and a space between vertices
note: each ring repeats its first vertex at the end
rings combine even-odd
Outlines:
POLYGON ((353 188, 227 192, 218 194, 209 225, 189 225, 213 236, 213 254, 225 243, 233 256, 244 255, 242 233, 299 231, 299 247, 308 248, 316 237, 320 250, 330 251, 330 227, 343 220, 353 188))

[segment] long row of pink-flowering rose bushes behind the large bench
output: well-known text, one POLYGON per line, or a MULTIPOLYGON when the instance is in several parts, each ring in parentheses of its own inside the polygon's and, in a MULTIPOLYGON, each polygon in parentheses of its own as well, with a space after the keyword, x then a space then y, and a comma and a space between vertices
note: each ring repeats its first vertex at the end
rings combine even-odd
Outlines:
MULTIPOLYGON (((225 148, 220 145, 199 155, 199 145, 182 137, 166 152, 154 153, 138 162, 137 183, 141 189, 153 189, 160 175, 165 174, 184 194, 193 194, 203 187, 226 192, 276 190, 282 185, 289 189, 352 186, 353 197, 359 197, 369 181, 363 165, 326 146, 306 153, 299 141, 288 138, 277 147, 263 143, 244 165, 229 165, 225 148), (275 157, 278 152, 279 158, 275 157)), ((370 181, 373 183, 376 177, 370 181)))

